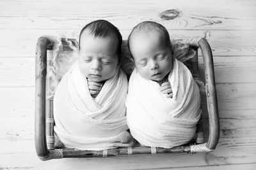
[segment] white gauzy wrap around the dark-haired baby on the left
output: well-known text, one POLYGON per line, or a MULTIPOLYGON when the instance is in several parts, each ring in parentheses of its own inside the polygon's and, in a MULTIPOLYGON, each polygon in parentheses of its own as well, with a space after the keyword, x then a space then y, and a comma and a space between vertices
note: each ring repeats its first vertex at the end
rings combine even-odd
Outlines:
POLYGON ((76 63, 61 79, 54 94, 54 131, 67 148, 105 150, 131 146, 125 98, 128 82, 118 68, 93 98, 76 63))

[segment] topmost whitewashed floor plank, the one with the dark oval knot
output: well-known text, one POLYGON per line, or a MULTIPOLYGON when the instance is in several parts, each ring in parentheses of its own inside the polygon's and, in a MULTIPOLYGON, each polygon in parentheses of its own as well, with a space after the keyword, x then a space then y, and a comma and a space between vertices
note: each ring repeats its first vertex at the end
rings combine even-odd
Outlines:
POLYGON ((255 30, 254 1, 1 1, 0 28, 81 29, 85 23, 104 18, 120 29, 131 29, 143 20, 154 20, 172 29, 255 30), (22 3, 19 3, 22 2, 22 3), (232 5, 232 8, 230 8, 232 5), (214 10, 213 10, 214 9, 214 10), (236 10, 234 10, 236 9, 236 10), (159 13, 180 11, 172 20, 159 13), (8 18, 8 22, 4 20, 8 18), (47 23, 47 24, 45 24, 47 23))

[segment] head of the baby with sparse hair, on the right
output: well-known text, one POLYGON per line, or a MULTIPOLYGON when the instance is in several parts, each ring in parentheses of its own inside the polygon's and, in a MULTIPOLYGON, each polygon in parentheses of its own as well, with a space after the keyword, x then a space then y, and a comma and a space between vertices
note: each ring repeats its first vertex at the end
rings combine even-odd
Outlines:
POLYGON ((128 47, 138 73, 161 81, 172 69, 172 44, 166 28, 156 22, 141 22, 128 38, 128 47))

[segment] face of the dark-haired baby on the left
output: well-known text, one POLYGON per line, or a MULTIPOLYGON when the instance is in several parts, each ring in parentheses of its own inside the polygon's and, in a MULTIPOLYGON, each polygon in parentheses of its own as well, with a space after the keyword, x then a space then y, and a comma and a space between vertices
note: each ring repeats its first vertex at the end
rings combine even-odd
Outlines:
POLYGON ((79 69, 96 82, 114 76, 118 68, 118 40, 115 37, 94 38, 84 32, 80 39, 79 69))

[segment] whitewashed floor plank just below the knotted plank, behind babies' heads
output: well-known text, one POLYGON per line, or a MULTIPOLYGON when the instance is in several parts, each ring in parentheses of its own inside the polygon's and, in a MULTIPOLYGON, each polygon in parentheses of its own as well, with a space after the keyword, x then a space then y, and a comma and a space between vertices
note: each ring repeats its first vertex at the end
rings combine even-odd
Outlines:
MULTIPOLYGON (((80 29, 3 29, 0 32, 1 39, 4 39, 4 41, 0 41, 0 57, 35 57, 36 41, 40 36, 77 39, 80 29)), ((131 29, 121 29, 120 32, 123 39, 127 39, 131 29)), ((171 39, 191 38, 193 36, 206 38, 211 45, 213 56, 256 56, 255 31, 169 29, 169 32, 171 39)), ((199 55, 201 55, 200 50, 199 55)))

